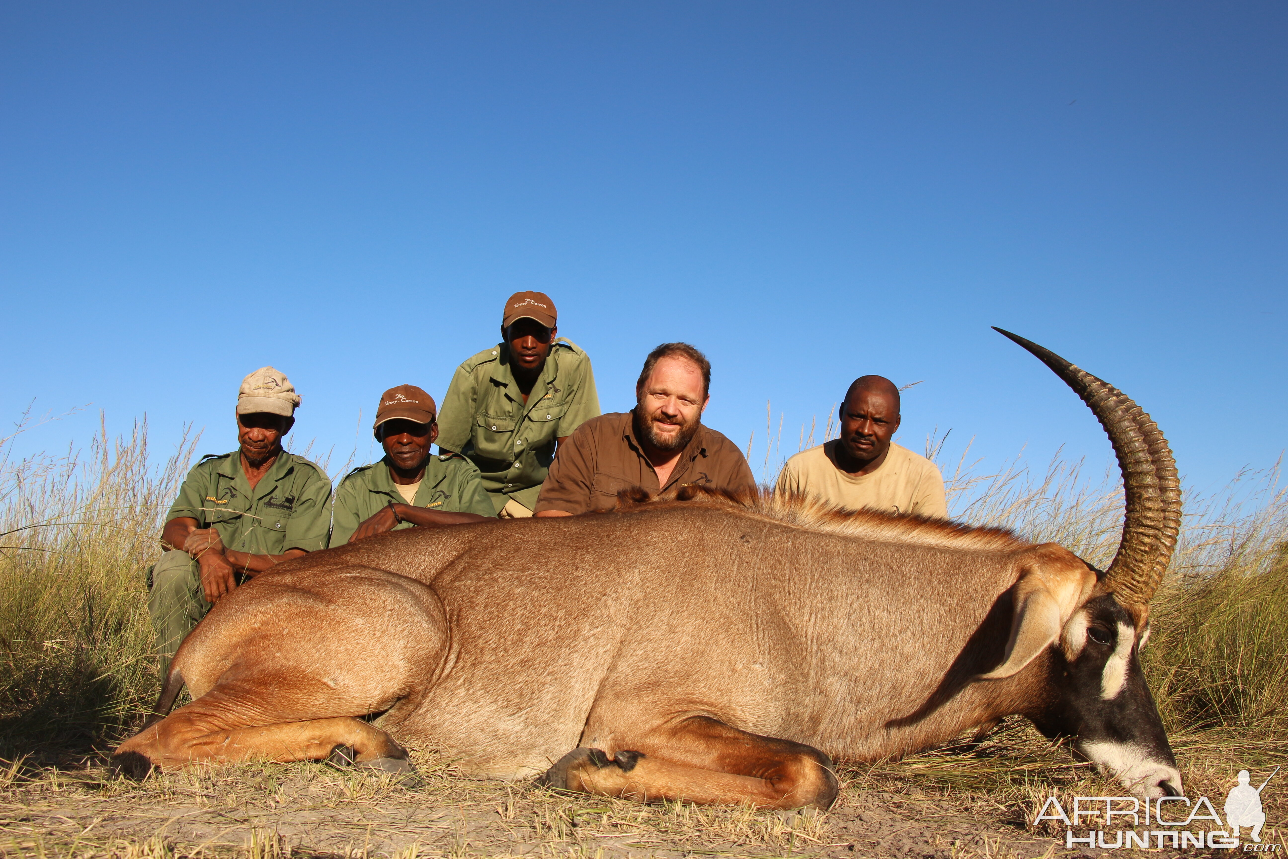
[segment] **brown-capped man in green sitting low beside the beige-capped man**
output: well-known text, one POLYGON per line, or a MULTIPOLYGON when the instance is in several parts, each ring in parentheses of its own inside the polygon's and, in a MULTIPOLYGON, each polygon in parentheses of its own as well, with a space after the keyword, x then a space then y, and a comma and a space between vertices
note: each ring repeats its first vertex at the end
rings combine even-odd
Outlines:
POLYGON ((460 453, 431 456, 434 398, 415 385, 390 388, 376 407, 385 458, 354 469, 335 491, 331 545, 403 528, 455 525, 496 516, 478 467, 460 453))

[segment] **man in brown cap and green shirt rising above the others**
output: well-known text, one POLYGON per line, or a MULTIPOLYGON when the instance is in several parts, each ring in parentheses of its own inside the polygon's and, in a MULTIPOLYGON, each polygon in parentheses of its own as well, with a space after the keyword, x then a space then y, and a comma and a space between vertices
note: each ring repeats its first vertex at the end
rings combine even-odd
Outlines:
POLYGON ((438 449, 479 467, 501 518, 532 515, 555 444, 599 415, 590 358, 556 319, 544 292, 511 295, 501 343, 457 367, 443 399, 438 449))

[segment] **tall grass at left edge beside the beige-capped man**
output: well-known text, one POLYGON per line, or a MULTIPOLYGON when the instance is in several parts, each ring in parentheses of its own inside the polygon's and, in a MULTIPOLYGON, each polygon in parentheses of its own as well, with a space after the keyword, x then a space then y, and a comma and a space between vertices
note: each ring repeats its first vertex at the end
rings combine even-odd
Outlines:
POLYGON ((10 461, 0 442, 0 757, 121 735, 157 692, 146 569, 192 458, 149 465, 147 424, 84 453, 10 461))

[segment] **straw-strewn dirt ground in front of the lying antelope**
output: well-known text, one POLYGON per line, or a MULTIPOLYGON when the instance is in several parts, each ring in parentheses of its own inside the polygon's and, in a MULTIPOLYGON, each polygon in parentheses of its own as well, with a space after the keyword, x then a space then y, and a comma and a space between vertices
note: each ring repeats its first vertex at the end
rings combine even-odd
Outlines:
MULTIPOLYGON (((1173 738, 1191 797, 1220 809, 1238 769, 1255 783, 1288 762, 1288 741, 1173 738)), ((979 747, 842 766, 824 814, 640 805, 479 782, 416 753, 406 787, 322 764, 200 766, 133 783, 102 761, 0 770, 0 855, 120 856, 1202 856, 1202 850, 1065 850, 1064 827, 1032 826, 1050 795, 1114 796, 1063 747, 1012 722, 979 747)), ((1283 775, 1283 774, 1282 774, 1283 775)), ((1288 855, 1288 777, 1264 792, 1262 844, 1288 855)), ((1117 828, 1117 827, 1114 827, 1117 828)), ((1242 853, 1242 850, 1239 850, 1242 853)), ((1234 850, 1211 851, 1233 855, 1234 850)))

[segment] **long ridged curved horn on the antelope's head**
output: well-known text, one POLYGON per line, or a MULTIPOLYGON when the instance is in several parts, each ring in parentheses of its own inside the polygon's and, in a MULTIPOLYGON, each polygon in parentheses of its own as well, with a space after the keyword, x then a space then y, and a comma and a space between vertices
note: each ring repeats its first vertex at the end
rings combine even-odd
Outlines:
POLYGON ((1127 515, 1118 554, 1100 583, 1124 605, 1149 603, 1172 559, 1181 528, 1181 482, 1167 439, 1149 415, 1113 385, 1019 335, 996 326, 993 331, 1024 346, 1055 371, 1105 428, 1123 473, 1127 515))

